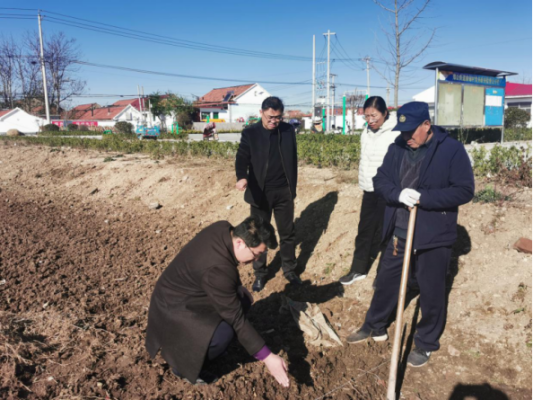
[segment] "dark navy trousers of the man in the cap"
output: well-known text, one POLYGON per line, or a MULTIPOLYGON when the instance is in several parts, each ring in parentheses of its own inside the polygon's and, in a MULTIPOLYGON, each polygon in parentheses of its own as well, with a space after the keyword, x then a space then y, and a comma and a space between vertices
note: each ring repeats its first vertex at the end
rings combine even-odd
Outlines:
MULTIPOLYGON (((366 332, 384 334, 389 317, 396 310, 405 245, 406 241, 398 239, 397 255, 394 255, 392 238, 382 255, 376 290, 362 327, 366 332)), ((451 247, 438 247, 412 254, 408 287, 419 287, 421 306, 414 341, 417 347, 426 351, 439 349, 439 338, 445 327, 446 278, 451 252, 451 247)))

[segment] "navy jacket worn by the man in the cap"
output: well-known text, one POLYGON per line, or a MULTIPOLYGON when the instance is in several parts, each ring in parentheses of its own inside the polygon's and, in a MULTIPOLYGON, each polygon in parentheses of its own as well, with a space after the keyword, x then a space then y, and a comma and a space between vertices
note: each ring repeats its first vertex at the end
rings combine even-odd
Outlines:
MULTIPOLYGON (((432 131, 434 139, 421 165, 416 189, 421 193, 413 239, 416 250, 452 245, 457 238, 458 206, 471 201, 475 192, 473 169, 464 145, 439 126, 432 126, 432 131)), ((404 207, 399 202, 399 171, 406 151, 406 142, 399 136, 373 178, 375 192, 387 203, 384 240, 393 234, 397 209, 404 207)))

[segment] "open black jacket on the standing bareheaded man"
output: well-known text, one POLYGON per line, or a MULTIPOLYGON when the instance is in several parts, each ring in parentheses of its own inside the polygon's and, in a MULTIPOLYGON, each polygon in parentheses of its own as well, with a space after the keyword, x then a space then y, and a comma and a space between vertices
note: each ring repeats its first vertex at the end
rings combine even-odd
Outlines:
MULTIPOLYGON (((261 121, 243 130, 235 159, 237 180, 247 180, 245 201, 259 206, 263 198, 265 177, 269 163, 269 131, 262 129, 261 121)), ((281 122, 278 127, 278 144, 282 163, 293 198, 297 196, 297 138, 295 129, 281 122)))

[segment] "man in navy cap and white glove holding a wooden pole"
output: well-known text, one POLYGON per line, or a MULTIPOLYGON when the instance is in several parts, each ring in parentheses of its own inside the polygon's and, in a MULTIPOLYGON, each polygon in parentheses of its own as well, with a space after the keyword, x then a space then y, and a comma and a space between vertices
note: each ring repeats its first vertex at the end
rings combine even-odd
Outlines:
MULTIPOLYGON (((397 111, 401 135, 390 145, 373 178, 375 191, 387 203, 377 287, 364 325, 347 341, 387 339, 387 323, 395 310, 400 287, 409 208, 417 205, 409 286, 419 288, 421 320, 408 364, 425 365, 445 327, 446 277, 452 245, 457 238, 458 207, 471 201, 475 183, 465 147, 430 124, 428 105, 412 102, 397 111)), ((400 321, 398 321, 400 323, 400 321)))

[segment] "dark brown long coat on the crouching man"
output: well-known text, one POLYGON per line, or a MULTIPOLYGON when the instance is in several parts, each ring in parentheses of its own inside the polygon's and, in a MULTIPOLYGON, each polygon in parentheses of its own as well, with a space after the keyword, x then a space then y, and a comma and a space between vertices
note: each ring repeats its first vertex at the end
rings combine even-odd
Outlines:
POLYGON ((224 320, 251 355, 265 342, 247 321, 237 289, 232 226, 219 221, 202 230, 163 272, 150 300, 146 348, 194 382, 215 329, 224 320))

